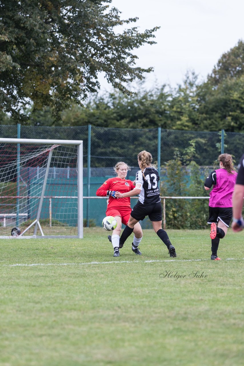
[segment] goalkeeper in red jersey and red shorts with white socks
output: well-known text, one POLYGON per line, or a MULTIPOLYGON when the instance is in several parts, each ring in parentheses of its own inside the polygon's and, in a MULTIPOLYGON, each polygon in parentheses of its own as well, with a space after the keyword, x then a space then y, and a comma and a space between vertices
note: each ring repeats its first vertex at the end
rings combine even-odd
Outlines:
MULTIPOLYGON (((115 178, 107 179, 100 188, 97 190, 97 196, 108 197, 108 206, 106 210, 106 216, 113 216, 117 220, 117 227, 113 230, 112 236, 108 236, 109 241, 112 242, 114 249, 114 257, 119 257, 119 241, 120 241, 120 232, 122 228, 122 224, 127 225, 129 216, 131 214, 131 202, 129 197, 122 197, 117 199, 115 197, 115 192, 119 191, 122 195, 125 192, 132 191, 135 186, 134 183, 125 179, 127 176, 128 170, 131 168, 125 164, 123 161, 119 161, 114 167, 114 171, 117 174, 115 178)), ((137 250, 133 250, 135 254, 142 254, 139 251, 138 245, 142 240, 142 228, 139 223, 134 226, 134 239, 133 244, 137 250)))

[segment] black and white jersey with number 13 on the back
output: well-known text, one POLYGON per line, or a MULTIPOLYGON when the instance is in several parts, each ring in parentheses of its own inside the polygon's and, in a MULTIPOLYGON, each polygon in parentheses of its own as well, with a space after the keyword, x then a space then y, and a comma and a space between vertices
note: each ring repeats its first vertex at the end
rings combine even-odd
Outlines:
POLYGON ((140 189, 139 201, 143 205, 153 205, 153 203, 160 202, 159 194, 159 175, 157 169, 144 169, 143 178, 142 171, 136 173, 135 188, 140 189))

